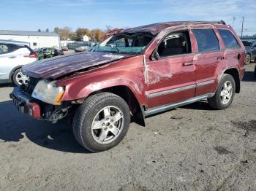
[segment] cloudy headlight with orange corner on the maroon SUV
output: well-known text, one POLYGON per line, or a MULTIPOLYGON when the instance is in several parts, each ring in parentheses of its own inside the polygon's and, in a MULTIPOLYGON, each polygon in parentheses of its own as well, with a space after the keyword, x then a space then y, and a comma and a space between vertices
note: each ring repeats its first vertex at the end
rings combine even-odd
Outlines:
POLYGON ((56 87, 56 81, 47 82, 40 80, 32 93, 33 98, 37 98, 48 104, 60 105, 64 94, 64 87, 56 87))

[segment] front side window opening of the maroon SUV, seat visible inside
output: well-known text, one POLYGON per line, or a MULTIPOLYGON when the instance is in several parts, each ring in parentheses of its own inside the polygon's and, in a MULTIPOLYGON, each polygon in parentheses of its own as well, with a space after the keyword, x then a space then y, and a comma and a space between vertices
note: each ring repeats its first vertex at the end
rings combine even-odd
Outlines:
POLYGON ((176 31, 168 34, 157 49, 159 57, 191 53, 189 31, 176 31))

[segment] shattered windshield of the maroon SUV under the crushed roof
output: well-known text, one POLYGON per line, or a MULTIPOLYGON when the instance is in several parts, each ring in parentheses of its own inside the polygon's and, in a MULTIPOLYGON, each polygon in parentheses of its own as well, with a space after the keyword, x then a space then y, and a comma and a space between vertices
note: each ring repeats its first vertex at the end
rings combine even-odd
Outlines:
POLYGON ((154 38, 150 34, 115 34, 101 44, 94 46, 91 52, 112 52, 122 54, 140 54, 154 38))

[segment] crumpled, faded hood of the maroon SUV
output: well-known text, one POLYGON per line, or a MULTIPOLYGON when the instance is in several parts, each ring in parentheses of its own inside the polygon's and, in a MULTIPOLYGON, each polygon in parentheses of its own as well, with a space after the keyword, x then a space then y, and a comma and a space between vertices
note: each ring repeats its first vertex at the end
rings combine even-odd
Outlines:
POLYGON ((81 52, 29 63, 22 67, 22 72, 30 77, 56 79, 91 66, 99 66, 131 56, 107 52, 81 52))

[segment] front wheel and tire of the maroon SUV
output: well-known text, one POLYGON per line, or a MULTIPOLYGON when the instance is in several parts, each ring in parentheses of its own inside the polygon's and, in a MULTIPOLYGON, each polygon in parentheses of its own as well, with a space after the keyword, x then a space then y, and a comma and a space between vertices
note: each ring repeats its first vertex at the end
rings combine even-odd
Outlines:
POLYGON ((102 152, 124 139, 129 123, 129 106, 124 99, 113 93, 98 93, 91 95, 78 107, 72 128, 75 139, 82 147, 91 152, 102 152), (121 116, 120 120, 117 120, 117 115, 121 116))

